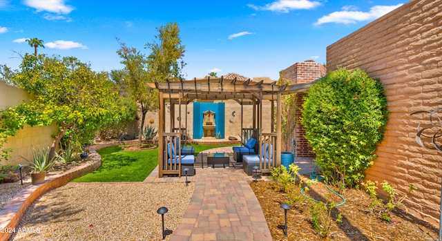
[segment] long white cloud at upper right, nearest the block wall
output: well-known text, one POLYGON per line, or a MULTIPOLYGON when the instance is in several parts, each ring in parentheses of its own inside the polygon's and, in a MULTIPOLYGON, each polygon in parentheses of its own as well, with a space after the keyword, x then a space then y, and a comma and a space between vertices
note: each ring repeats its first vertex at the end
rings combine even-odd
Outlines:
POLYGON ((387 12, 391 12, 392 10, 399 8, 403 4, 398 4, 395 6, 374 6, 370 8, 369 12, 361 12, 354 10, 354 6, 345 6, 343 11, 332 12, 329 15, 321 17, 314 23, 315 26, 319 26, 323 23, 356 23, 358 21, 371 21, 381 17, 387 12), (350 8, 349 8, 350 7, 350 8))

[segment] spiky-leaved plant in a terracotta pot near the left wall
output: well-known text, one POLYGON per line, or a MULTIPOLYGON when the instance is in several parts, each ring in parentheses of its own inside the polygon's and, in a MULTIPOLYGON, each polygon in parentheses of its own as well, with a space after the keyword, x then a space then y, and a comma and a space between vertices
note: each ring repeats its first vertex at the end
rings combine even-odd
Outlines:
POLYGON ((55 164, 55 158, 49 158, 49 149, 49 147, 41 150, 32 148, 32 162, 28 161, 32 170, 30 173, 32 185, 43 183, 46 171, 55 164))

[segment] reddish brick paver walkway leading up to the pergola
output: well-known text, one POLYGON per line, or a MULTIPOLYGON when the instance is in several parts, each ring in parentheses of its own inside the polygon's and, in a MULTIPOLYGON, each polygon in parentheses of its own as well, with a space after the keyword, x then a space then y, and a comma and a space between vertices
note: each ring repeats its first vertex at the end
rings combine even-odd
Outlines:
MULTIPOLYGON (((231 147, 225 151, 230 150, 231 147)), ((311 158, 298 158, 296 161, 302 171, 311 172, 311 158)), ((185 180, 185 177, 158 178, 157 168, 144 182, 185 180)), ((193 197, 180 225, 171 234, 171 241, 272 240, 264 213, 249 186, 249 181, 253 180, 251 176, 242 168, 195 170, 196 175, 188 177, 195 182, 193 197)))

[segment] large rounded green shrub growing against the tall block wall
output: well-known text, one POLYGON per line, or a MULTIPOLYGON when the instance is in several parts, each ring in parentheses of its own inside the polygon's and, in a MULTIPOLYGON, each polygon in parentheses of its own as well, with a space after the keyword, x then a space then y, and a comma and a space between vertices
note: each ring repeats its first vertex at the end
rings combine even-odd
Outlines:
POLYGON ((301 123, 329 182, 356 186, 376 158, 388 119, 381 82, 363 70, 334 70, 309 89, 301 123))

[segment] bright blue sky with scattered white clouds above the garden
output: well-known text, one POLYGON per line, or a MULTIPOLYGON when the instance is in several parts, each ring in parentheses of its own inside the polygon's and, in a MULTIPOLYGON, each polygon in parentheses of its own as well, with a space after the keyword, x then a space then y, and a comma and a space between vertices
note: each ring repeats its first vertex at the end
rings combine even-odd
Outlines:
POLYGON ((406 0, 64 1, 0 0, 0 64, 39 53, 74 56, 93 70, 121 69, 115 37, 148 55, 156 28, 180 26, 186 79, 238 73, 271 77, 296 62, 326 64, 326 48, 406 0))

